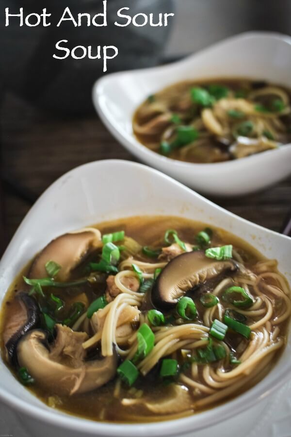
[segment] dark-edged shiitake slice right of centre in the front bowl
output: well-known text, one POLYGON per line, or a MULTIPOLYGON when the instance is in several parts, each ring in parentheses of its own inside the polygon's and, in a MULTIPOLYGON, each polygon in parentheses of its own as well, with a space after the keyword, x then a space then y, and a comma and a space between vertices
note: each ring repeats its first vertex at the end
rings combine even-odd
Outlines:
POLYGON ((170 261, 158 276, 152 289, 152 303, 157 308, 170 309, 195 286, 236 269, 232 260, 216 261, 201 251, 183 253, 170 261))

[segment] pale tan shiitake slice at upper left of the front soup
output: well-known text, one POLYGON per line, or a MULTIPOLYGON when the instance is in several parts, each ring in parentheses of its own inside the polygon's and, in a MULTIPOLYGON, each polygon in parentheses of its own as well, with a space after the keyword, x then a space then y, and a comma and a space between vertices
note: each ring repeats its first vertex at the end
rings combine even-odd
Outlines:
POLYGON ((56 279, 66 281, 71 270, 80 264, 91 250, 101 246, 101 234, 95 228, 84 228, 80 232, 61 235, 52 240, 35 258, 29 271, 29 278, 46 278, 46 264, 54 261, 61 266, 56 279))

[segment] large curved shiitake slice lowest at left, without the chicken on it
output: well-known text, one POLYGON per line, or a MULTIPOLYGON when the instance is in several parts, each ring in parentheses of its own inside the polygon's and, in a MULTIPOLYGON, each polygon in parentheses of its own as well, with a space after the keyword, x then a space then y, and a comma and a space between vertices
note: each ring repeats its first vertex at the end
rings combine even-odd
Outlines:
POLYGON ((92 391, 108 383, 116 374, 116 352, 100 360, 82 361, 79 367, 74 368, 55 361, 53 348, 49 351, 46 342, 44 331, 29 332, 17 345, 17 357, 19 365, 26 367, 36 383, 51 393, 73 395, 92 391))

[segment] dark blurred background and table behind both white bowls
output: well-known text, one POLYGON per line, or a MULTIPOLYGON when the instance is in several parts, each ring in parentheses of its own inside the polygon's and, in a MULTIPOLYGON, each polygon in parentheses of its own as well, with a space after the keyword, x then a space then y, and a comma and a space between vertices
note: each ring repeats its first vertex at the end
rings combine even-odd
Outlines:
MULTIPOLYGON (((47 7, 60 18, 100 12, 96 0, 9 0, 11 13, 47 7), (15 12, 14 12, 15 11, 15 12)), ((71 47, 116 45, 119 56, 108 72, 163 64, 203 49, 227 36, 251 30, 291 34, 291 0, 109 0, 107 28, 5 28, 7 1, 0 0, 0 253, 39 195, 59 176, 83 163, 106 158, 133 159, 94 114, 91 88, 103 74, 102 62, 57 61, 55 43, 71 47), (113 26, 116 11, 175 12, 167 28, 113 26)), ((280 231, 288 217, 291 181, 240 199, 212 199, 228 210, 280 231)))

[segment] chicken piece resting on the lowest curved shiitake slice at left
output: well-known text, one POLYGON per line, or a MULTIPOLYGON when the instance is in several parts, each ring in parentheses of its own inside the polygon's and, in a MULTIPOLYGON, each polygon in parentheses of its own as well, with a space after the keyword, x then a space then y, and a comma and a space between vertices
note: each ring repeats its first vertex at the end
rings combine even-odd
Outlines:
POLYGON ((72 331, 68 326, 60 324, 57 324, 56 328, 57 337, 49 358, 57 362, 62 361, 74 368, 81 367, 86 354, 82 343, 88 339, 88 335, 72 331))

